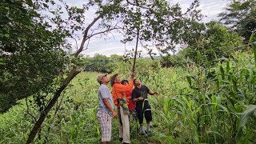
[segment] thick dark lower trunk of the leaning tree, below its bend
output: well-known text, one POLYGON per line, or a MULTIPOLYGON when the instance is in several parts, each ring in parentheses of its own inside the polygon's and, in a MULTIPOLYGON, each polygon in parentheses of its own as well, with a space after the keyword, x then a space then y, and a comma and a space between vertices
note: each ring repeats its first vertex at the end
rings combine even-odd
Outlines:
POLYGON ((33 129, 30 132, 29 138, 27 138, 26 144, 31 143, 34 141, 34 137, 38 133, 39 128, 42 125, 42 122, 45 120, 46 115, 49 114, 51 108, 54 106, 54 104, 57 102, 59 96, 62 94, 62 91, 65 90, 66 86, 70 83, 70 81, 80 73, 81 71, 77 70, 77 67, 74 66, 73 70, 71 70, 69 76, 66 78, 66 81, 64 84, 56 90, 54 97, 50 100, 49 104, 46 106, 46 109, 43 110, 40 118, 38 121, 34 124, 33 129))

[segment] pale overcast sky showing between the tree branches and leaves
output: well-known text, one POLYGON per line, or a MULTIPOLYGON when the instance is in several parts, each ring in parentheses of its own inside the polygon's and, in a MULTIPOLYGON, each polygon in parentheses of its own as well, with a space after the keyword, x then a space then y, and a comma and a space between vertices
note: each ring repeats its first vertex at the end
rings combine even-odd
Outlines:
MULTIPOLYGON (((85 1, 82 0, 66 0, 70 6, 82 7, 82 4, 85 1)), ((170 4, 179 3, 182 7, 182 10, 186 10, 193 2, 193 0, 170 0, 170 4)), ((200 6, 199 9, 202 10, 202 14, 206 15, 203 18, 203 22, 210 22, 211 20, 218 20, 217 15, 221 13, 230 0, 199 0, 200 6)), ((93 12, 91 13, 93 14, 93 12)), ((91 18, 91 17, 90 17, 91 18)), ((131 50, 135 47, 135 42, 130 42, 130 44, 122 44, 120 42, 120 34, 111 34, 108 38, 93 38, 90 40, 88 49, 83 51, 82 54, 94 56, 94 54, 104 54, 110 56, 110 54, 119 54, 122 55, 126 50, 131 50)), ((74 42, 73 42, 74 43, 74 42)), ((78 45, 79 45, 78 41, 78 45)), ((143 50, 142 47, 138 48, 143 50)))

